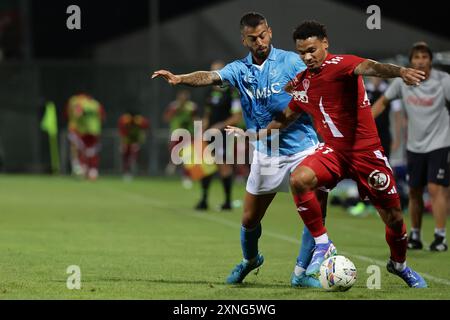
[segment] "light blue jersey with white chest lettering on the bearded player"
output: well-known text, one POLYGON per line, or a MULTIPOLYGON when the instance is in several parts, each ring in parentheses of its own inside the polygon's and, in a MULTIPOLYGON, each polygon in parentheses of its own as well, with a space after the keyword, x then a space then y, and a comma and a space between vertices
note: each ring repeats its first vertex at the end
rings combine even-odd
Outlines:
MULTIPOLYGON (((249 53, 246 58, 227 64, 218 74, 223 82, 239 90, 247 130, 258 131, 287 107, 291 96, 284 91, 284 86, 305 68, 296 53, 272 47, 261 66, 252 63, 249 53)), ((289 128, 280 131, 277 155, 298 153, 317 143, 311 119, 303 114, 289 128)), ((270 155, 270 150, 262 144, 257 149, 270 155)))

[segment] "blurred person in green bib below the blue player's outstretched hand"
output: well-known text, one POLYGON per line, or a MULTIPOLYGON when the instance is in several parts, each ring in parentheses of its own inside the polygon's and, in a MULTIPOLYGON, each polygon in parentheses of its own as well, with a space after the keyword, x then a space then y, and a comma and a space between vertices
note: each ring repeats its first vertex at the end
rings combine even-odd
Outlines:
MULTIPOLYGON (((191 100, 191 93, 189 90, 182 89, 177 91, 176 99, 169 103, 164 112, 164 122, 169 124, 170 134, 176 129, 186 129, 194 137, 194 121, 198 118, 197 104, 191 100)), ((169 137, 170 139, 171 137, 169 137)), ((178 141, 169 142, 169 154, 172 153, 172 149, 181 142, 178 141)), ((192 141, 191 141, 192 142, 192 141)), ((173 164, 169 157, 169 163, 166 166, 166 174, 174 175, 176 166, 173 164)), ((189 171, 183 168, 182 183, 186 189, 192 188, 192 180, 189 177, 189 171)))

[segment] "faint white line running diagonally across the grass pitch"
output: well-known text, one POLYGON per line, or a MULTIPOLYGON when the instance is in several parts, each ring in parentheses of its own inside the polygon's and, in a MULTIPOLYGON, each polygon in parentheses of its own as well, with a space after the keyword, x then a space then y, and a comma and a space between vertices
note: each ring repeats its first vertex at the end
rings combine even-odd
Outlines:
MULTIPOLYGON (((153 205, 153 206, 156 206, 156 207, 159 207, 159 208, 164 207, 164 208, 167 208, 167 209, 177 210, 176 208, 170 206, 167 203, 163 203, 162 201, 158 201, 158 200, 154 201, 152 199, 147 198, 144 195, 130 193, 130 192, 127 192, 127 191, 121 191, 121 194, 125 194, 125 193, 127 195, 129 195, 129 196, 132 196, 135 199, 137 199, 137 198, 145 199, 150 205, 153 205)), ((209 215, 209 214, 195 214, 195 213, 185 213, 185 214, 189 215, 191 217, 198 218, 198 219, 209 220, 209 221, 212 221, 212 222, 220 223, 222 225, 226 225, 226 226, 232 227, 232 228, 240 228, 241 227, 241 225, 238 224, 238 223, 235 223, 235 222, 232 222, 232 221, 229 221, 229 220, 217 217, 217 216, 212 216, 212 215, 209 215)), ((295 244, 299 243, 298 239, 295 239, 295 238, 292 238, 292 237, 288 237, 288 236, 285 236, 285 235, 282 235, 282 234, 279 234, 279 233, 276 233, 276 232, 272 232, 272 231, 269 231, 269 230, 266 230, 266 229, 264 229, 263 234, 267 235, 269 237, 278 239, 278 240, 283 240, 283 241, 291 242, 291 243, 295 243, 295 244)), ((366 256, 361 256, 361 255, 353 254, 353 253, 346 252, 346 251, 339 251, 339 252, 342 253, 343 255, 348 255, 348 256, 351 256, 351 257, 355 257, 356 259, 361 260, 361 261, 365 261, 365 262, 369 262, 369 263, 375 263, 375 264, 377 264, 380 267, 384 267, 386 265, 386 262, 381 261, 381 260, 372 259, 372 258, 369 258, 369 257, 366 257, 366 256)), ((420 272, 420 271, 418 271, 418 272, 425 279, 428 279, 430 281, 433 281, 433 282, 436 282, 436 283, 439 283, 439 284, 444 284, 446 286, 450 286, 450 281, 447 280, 447 279, 437 278, 437 277, 434 277, 432 275, 429 275, 427 273, 423 273, 423 272, 420 272)))

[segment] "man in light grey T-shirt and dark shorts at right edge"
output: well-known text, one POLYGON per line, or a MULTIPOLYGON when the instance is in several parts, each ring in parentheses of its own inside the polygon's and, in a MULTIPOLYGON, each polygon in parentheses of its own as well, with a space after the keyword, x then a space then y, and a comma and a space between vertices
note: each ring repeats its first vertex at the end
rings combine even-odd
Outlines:
MULTIPOLYGON (((446 220, 450 184, 450 76, 432 67, 433 53, 425 42, 411 48, 409 61, 413 68, 426 73, 420 86, 408 87, 394 80, 375 105, 377 117, 391 100, 402 99, 407 130, 407 162, 411 232, 409 249, 422 249, 423 193, 425 187, 431 198, 435 220, 431 251, 447 251, 446 220)), ((400 79, 401 80, 401 79, 400 79)), ((398 130, 396 130, 398 131, 398 130)), ((398 145, 394 137, 393 145, 398 145)))

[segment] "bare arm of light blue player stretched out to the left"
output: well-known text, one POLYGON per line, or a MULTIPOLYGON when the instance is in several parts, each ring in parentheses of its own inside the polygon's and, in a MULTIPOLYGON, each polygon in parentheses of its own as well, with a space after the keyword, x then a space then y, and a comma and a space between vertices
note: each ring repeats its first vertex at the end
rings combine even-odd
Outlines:
POLYGON ((184 84, 191 87, 202 87, 222 84, 219 74, 214 71, 195 71, 177 75, 167 70, 158 70, 153 72, 152 79, 157 77, 163 77, 171 85, 184 84))

